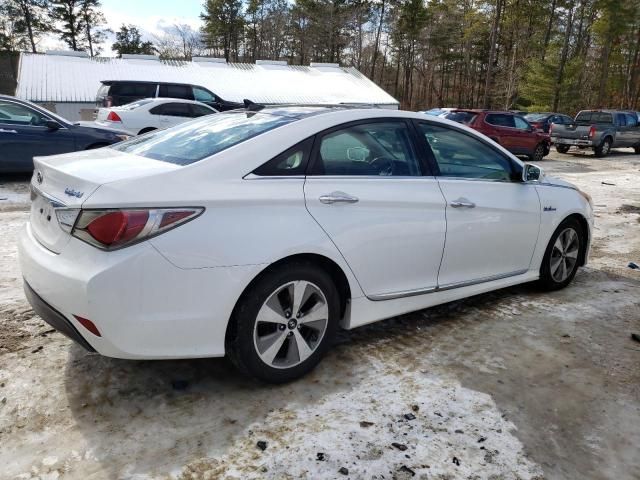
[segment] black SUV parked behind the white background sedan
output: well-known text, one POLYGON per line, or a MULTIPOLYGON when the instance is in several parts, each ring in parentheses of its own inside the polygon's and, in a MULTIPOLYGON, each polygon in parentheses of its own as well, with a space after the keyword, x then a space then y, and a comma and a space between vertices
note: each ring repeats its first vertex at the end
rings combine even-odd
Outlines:
POLYGON ((212 91, 199 85, 125 80, 103 80, 102 86, 98 89, 96 105, 98 108, 119 107, 142 98, 197 100, 219 112, 244 108, 244 104, 223 100, 212 91))

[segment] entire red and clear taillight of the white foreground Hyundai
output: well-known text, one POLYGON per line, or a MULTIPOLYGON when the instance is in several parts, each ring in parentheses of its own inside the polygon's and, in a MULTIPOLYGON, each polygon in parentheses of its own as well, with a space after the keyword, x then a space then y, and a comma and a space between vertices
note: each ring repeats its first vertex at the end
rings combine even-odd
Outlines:
POLYGON ((82 210, 71 234, 102 250, 114 250, 171 230, 203 211, 201 207, 82 210))

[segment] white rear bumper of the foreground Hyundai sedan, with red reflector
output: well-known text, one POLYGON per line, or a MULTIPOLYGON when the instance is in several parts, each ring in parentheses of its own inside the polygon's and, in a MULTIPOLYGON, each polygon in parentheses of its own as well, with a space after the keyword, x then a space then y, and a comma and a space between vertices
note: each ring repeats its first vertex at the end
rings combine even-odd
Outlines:
POLYGON ((235 302, 263 268, 182 269, 149 242, 104 252, 71 238, 56 254, 29 224, 18 250, 36 313, 85 348, 128 359, 223 356, 235 302), (100 335, 76 316, 89 319, 100 335))

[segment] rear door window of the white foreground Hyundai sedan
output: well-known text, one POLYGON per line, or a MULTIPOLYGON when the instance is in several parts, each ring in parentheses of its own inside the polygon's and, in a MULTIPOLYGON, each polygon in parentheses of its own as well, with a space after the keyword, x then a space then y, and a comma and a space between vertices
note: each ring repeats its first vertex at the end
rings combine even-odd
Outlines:
POLYGON ((312 175, 418 176, 405 122, 353 125, 325 134, 312 175))

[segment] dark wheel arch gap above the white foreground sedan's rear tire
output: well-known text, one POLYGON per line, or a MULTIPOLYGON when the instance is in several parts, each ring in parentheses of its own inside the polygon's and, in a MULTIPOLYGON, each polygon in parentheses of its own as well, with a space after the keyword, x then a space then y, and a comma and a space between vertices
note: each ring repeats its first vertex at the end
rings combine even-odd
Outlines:
MULTIPOLYGON (((347 278, 347 275, 345 274, 342 267, 340 267, 340 265, 338 265, 335 261, 324 255, 320 255, 317 253, 297 253, 270 263, 268 266, 262 269, 244 288, 233 307, 231 317, 229 318, 229 321, 227 323, 227 331, 225 335, 227 339, 230 335, 234 334, 235 322, 233 321, 233 318, 238 306, 240 305, 240 302, 245 297, 245 295, 247 295, 248 292, 251 291, 256 282, 258 282, 269 272, 295 262, 312 263, 319 268, 322 268, 329 274, 336 286, 336 289, 338 290, 338 295, 340 296, 340 318, 344 318, 347 313, 347 306, 349 305, 349 301, 351 300, 351 286, 349 285, 349 279, 347 278)), ((225 344, 226 343, 227 341, 225 340, 225 344)))

